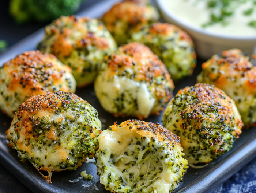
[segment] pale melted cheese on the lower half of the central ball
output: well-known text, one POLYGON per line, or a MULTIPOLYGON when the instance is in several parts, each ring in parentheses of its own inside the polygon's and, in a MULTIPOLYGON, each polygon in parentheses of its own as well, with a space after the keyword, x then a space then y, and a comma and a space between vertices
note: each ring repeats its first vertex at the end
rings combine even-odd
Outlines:
POLYGON ((116 76, 112 80, 105 80, 104 77, 106 76, 103 74, 98 76, 94 88, 105 110, 117 114, 127 113, 148 117, 155 105, 155 99, 148 90, 146 83, 135 82, 125 76, 116 76), (121 95, 124 95, 124 101, 117 100, 121 95), (119 112, 118 105, 123 105, 122 112, 119 112))

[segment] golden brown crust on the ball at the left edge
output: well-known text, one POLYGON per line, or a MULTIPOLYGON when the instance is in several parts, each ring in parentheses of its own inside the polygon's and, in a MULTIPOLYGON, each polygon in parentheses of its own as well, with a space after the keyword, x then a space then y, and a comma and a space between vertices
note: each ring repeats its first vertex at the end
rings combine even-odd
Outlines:
MULTIPOLYGON (((55 56, 40 51, 28 51, 16 56, 4 64, 4 70, 12 75, 8 90, 13 92, 20 88, 25 89, 27 95, 36 95, 49 92, 49 83, 63 84, 61 77, 65 72, 71 73, 71 68, 62 66, 63 70, 57 72, 56 62, 55 56)), ((65 86, 61 87, 61 90, 69 91, 65 86)))

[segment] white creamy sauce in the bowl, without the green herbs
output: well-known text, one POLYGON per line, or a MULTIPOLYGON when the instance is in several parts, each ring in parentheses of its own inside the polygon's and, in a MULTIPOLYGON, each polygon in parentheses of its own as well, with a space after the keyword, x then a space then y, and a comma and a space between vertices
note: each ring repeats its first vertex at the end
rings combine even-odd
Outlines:
MULTIPOLYGON (((218 15, 220 8, 208 8, 208 0, 160 0, 161 3, 178 19, 188 25, 203 28, 202 25, 211 21, 211 12, 218 15)), ((235 2, 235 1, 233 1, 235 2)), ((256 27, 251 27, 251 21, 256 22, 256 4, 254 0, 245 0, 245 3, 234 5, 233 15, 226 17, 225 22, 214 23, 204 28, 206 31, 225 35, 256 35, 256 27), (251 15, 244 12, 253 8, 251 15)))

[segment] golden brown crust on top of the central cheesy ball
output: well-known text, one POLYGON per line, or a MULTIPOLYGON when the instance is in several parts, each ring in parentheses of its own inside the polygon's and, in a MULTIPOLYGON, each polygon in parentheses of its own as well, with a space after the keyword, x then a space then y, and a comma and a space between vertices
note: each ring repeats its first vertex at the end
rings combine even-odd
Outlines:
MULTIPOLYGON (((118 48, 118 54, 112 55, 111 59, 108 60, 108 75, 109 77, 116 76, 121 68, 125 70, 125 68, 131 68, 134 65, 138 68, 136 79, 151 83, 154 77, 164 76, 174 88, 170 74, 161 60, 144 44, 136 42, 118 48)), ((167 100, 169 101, 169 99, 167 100)))

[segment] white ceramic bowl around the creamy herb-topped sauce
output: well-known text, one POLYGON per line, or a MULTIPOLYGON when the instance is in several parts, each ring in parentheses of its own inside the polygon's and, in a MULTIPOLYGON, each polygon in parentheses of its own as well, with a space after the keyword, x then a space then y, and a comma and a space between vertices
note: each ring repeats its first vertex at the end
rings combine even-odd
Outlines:
POLYGON ((204 29, 184 23, 172 12, 170 12, 169 9, 164 6, 164 2, 168 0, 156 1, 162 13, 163 19, 166 22, 177 25, 192 36, 195 42, 196 53, 200 58, 208 59, 218 52, 232 48, 238 48, 248 53, 256 53, 256 33, 253 36, 229 36, 204 31, 204 29))

